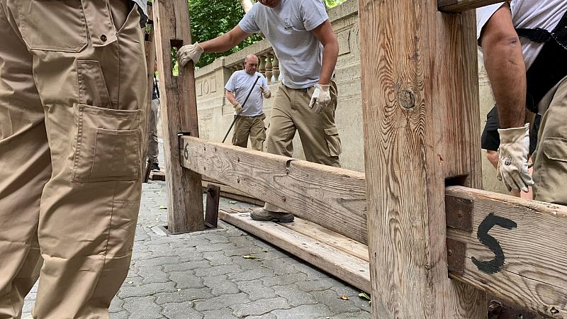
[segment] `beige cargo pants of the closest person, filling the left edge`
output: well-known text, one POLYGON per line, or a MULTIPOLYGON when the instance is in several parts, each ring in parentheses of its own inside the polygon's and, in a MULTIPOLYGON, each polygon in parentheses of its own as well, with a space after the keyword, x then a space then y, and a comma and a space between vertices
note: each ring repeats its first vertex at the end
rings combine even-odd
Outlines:
POLYGON ((34 318, 108 318, 128 273, 147 136, 132 6, 0 0, 0 318, 38 276, 34 318))

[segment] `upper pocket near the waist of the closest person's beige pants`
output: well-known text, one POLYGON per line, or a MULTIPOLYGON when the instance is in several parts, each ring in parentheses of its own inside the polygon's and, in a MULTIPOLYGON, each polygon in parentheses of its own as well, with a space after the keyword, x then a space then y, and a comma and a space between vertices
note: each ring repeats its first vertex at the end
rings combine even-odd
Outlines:
POLYGON ((18 0, 19 29, 30 50, 80 52, 87 43, 81 0, 18 0))

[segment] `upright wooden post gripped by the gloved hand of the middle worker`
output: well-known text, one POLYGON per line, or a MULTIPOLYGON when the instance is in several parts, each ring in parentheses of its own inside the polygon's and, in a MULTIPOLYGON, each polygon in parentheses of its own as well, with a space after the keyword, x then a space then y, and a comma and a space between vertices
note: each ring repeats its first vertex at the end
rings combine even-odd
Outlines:
POLYGON ((169 231, 204 229, 201 175, 181 167, 179 134, 197 137, 198 118, 193 63, 172 73, 172 47, 191 43, 187 0, 159 0, 153 5, 156 27, 160 108, 164 133, 169 231))

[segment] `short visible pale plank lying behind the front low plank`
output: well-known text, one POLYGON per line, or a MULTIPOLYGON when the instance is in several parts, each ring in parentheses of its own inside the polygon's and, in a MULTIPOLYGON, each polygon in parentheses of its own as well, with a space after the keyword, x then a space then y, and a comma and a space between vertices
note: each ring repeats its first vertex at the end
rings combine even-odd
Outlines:
POLYGON ((300 218, 294 220, 293 223, 281 223, 280 225, 295 230, 305 236, 309 236, 325 245, 335 247, 337 250, 352 254, 354 257, 366 260, 366 262, 369 261, 368 246, 352 240, 349 237, 337 234, 327 228, 323 228, 320 225, 300 218))

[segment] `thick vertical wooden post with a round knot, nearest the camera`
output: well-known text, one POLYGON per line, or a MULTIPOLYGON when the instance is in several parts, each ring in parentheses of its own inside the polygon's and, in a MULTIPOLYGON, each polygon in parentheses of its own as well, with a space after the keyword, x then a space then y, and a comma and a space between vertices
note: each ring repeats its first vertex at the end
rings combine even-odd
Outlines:
POLYGON ((449 279, 445 180, 481 186, 474 11, 359 0, 373 318, 486 318, 449 279))

